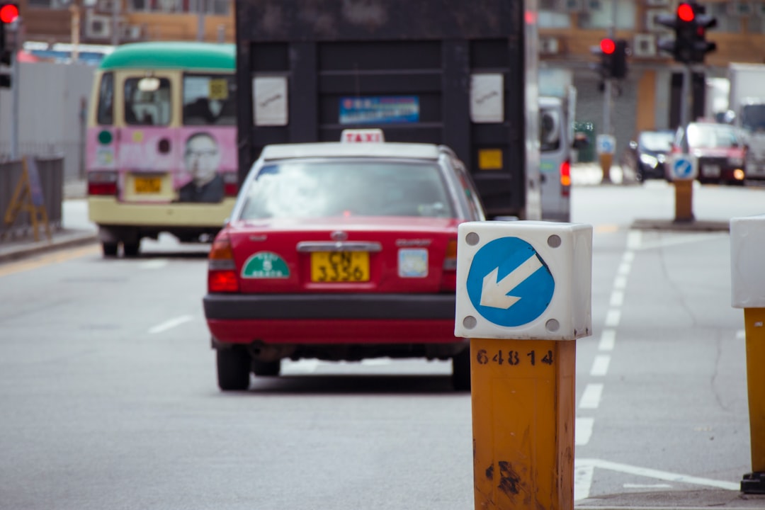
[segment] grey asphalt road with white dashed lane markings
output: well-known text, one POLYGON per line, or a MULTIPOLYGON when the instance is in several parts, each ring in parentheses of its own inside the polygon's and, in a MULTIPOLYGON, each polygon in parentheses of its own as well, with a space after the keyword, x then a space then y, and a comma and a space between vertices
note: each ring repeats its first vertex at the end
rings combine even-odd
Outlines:
MULTIPOLYGON (((763 212, 763 193, 705 187, 695 211, 724 223, 763 212)), ((750 445, 728 234, 631 228, 671 220, 671 198, 659 182, 574 190, 573 219, 594 226, 579 508, 765 506, 737 491, 750 445)), ((0 264, 0 508, 473 507, 470 395, 448 363, 296 362, 221 394, 206 249, 0 264)))

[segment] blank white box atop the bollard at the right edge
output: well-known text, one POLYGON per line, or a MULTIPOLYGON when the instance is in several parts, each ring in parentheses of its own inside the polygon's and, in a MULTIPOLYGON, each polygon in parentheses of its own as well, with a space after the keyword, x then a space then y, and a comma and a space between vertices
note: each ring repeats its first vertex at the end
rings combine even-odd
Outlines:
POLYGON ((731 304, 734 308, 765 308, 763 254, 765 214, 731 218, 731 304))

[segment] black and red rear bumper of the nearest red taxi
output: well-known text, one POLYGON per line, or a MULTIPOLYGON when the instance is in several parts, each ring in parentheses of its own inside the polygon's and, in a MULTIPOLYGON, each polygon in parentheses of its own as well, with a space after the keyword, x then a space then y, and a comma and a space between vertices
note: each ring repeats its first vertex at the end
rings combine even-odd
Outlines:
POLYGON ((207 294, 213 346, 457 344, 454 294, 207 294))

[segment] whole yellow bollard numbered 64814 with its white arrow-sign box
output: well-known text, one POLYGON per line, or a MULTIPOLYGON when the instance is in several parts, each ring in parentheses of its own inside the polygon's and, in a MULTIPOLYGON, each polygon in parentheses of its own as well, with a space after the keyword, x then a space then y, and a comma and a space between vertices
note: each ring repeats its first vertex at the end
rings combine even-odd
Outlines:
POLYGON ((591 334, 592 226, 469 222, 454 335, 470 338, 476 510, 574 508, 576 339, 591 334))

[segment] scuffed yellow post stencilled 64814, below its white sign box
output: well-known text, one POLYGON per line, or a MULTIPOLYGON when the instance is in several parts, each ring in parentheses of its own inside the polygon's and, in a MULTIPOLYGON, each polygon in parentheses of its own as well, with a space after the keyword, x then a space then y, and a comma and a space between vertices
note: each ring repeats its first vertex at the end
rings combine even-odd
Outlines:
POLYGON ((576 341, 470 339, 476 510, 574 508, 576 341))

